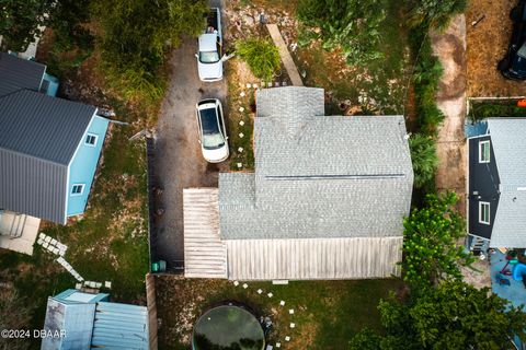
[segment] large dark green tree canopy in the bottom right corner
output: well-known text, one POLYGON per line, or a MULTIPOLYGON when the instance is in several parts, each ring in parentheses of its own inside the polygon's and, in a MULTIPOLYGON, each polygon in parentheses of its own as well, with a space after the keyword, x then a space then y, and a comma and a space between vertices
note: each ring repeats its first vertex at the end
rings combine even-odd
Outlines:
POLYGON ((425 294, 378 306, 385 335, 365 329, 350 349, 508 349, 514 335, 526 339, 526 314, 488 289, 444 280, 425 294))

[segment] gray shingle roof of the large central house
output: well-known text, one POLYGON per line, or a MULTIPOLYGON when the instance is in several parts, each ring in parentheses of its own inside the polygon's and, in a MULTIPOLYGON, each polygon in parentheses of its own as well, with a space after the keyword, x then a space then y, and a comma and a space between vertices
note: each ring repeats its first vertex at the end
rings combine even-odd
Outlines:
POLYGON ((256 97, 255 174, 219 175, 221 238, 402 235, 413 182, 403 117, 321 116, 320 89, 256 97))

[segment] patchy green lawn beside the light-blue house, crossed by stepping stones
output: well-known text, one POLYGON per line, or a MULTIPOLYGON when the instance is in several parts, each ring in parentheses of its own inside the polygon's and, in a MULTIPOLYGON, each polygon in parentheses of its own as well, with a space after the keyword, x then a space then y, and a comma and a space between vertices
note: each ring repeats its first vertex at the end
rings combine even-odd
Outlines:
MULTIPOLYGON (((145 303, 148 269, 146 150, 129 142, 130 130, 114 126, 103 151, 84 219, 67 226, 47 224, 41 232, 68 245, 66 259, 85 279, 112 281, 111 298, 145 303)), ((28 328, 42 329, 47 298, 75 288, 76 280, 35 245, 33 256, 0 253, 0 280, 12 281, 30 313, 28 328)), ((32 345, 39 348, 39 340, 32 345)))

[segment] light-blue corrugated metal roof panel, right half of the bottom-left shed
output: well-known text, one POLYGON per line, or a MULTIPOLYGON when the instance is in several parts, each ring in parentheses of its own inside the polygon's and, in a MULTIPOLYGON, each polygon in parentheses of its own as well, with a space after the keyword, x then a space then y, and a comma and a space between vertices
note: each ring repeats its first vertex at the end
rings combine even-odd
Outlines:
POLYGON ((96 304, 91 348, 148 350, 148 310, 145 306, 96 304))

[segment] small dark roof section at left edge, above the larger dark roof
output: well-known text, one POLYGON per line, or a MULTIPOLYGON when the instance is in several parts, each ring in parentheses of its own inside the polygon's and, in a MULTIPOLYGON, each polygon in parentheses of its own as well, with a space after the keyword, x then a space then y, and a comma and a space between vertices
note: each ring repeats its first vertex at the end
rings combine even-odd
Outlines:
POLYGON ((21 89, 38 91, 46 66, 0 52, 0 96, 21 89))

